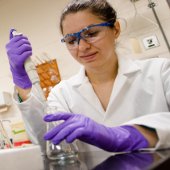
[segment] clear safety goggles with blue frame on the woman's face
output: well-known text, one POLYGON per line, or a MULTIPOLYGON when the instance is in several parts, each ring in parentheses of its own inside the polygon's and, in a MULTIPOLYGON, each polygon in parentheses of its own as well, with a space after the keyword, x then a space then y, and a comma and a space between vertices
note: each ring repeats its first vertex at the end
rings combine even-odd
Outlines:
POLYGON ((93 24, 83 28, 79 32, 65 35, 61 39, 61 42, 66 43, 68 49, 77 49, 81 39, 87 43, 94 43, 104 38, 106 30, 110 26, 113 26, 112 22, 93 24))

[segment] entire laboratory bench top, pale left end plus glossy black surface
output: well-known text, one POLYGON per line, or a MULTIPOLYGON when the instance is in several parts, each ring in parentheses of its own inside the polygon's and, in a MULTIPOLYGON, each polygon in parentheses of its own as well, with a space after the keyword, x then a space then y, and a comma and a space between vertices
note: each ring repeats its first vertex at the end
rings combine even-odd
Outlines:
POLYGON ((2 170, 168 170, 170 150, 109 153, 80 152, 74 161, 60 164, 41 156, 38 146, 0 150, 2 170))

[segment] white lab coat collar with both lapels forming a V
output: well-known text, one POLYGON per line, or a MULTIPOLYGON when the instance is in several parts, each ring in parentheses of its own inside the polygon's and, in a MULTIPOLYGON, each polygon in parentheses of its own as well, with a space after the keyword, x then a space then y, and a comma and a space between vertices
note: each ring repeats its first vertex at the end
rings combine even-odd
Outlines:
MULTIPOLYGON (((118 85, 114 87, 116 89, 115 90, 116 92, 114 93, 112 92, 113 94, 111 95, 112 96, 111 100, 114 100, 118 96, 119 92, 124 87, 127 80, 134 77, 133 75, 135 75, 135 73, 137 73, 140 70, 139 66, 137 66, 137 64, 135 64, 134 61, 128 58, 119 58, 118 63, 119 63, 119 70, 118 70, 119 83, 116 83, 118 85)), ((98 97, 96 96, 93 90, 92 85, 88 80, 88 77, 85 74, 84 67, 82 67, 79 73, 72 78, 70 83, 72 83, 73 87, 77 88, 79 93, 88 101, 89 104, 92 105, 92 107, 98 110, 101 114, 105 113, 98 97)), ((110 107, 108 107, 107 110, 109 108, 110 107)))

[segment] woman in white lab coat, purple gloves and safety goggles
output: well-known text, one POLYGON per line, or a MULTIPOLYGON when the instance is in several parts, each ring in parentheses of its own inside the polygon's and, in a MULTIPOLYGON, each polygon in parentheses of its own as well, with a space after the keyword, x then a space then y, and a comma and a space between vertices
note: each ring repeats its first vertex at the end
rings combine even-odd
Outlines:
MULTIPOLYGON (((120 26, 105 0, 73 0, 63 10, 60 29, 61 41, 83 67, 52 89, 48 102, 58 111, 44 120, 64 122, 44 139, 54 144, 78 139, 110 152, 170 147, 170 61, 118 56, 120 26)), ((42 123, 34 116, 42 109, 23 67, 32 48, 23 35, 11 36, 6 48, 17 92, 24 101, 18 105, 34 138, 42 123)))

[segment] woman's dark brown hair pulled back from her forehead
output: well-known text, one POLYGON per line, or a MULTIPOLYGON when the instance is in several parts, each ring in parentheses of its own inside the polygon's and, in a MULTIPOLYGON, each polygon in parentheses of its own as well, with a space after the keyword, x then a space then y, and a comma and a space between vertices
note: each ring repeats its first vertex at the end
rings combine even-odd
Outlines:
POLYGON ((60 17, 60 30, 63 33, 62 22, 70 13, 89 10, 104 21, 115 23, 117 13, 106 0, 72 0, 63 10, 60 17))

